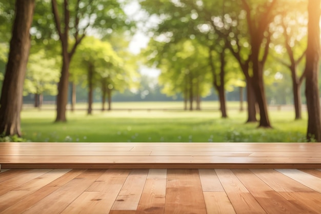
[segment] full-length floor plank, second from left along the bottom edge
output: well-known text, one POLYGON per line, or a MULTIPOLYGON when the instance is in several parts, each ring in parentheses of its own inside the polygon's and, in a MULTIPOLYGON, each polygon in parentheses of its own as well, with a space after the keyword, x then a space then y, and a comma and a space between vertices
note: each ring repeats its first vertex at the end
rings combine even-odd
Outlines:
POLYGON ((104 171, 105 170, 86 170, 23 213, 33 214, 43 210, 46 210, 46 214, 61 213, 71 202, 79 197, 85 189, 97 180, 104 171))

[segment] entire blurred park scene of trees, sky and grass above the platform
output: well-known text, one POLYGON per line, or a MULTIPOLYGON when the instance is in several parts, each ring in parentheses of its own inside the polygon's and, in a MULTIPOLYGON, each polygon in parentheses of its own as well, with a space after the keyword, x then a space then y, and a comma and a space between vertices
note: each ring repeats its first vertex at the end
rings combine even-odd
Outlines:
POLYGON ((319 141, 319 8, 319 0, 2 1, 1 141, 319 141), (14 71, 20 43, 28 63, 14 71))

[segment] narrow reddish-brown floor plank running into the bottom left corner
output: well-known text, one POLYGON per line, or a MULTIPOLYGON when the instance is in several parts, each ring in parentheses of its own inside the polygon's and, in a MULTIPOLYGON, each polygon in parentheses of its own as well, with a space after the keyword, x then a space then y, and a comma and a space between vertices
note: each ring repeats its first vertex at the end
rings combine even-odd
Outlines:
POLYGON ((67 182, 71 181, 75 177, 79 176, 79 174, 83 173, 85 170, 73 169, 62 177, 56 179, 55 181, 47 184, 46 186, 38 189, 37 191, 29 194, 29 196, 25 197, 21 201, 15 203, 14 205, 10 206, 6 210, 0 212, 1 214, 19 214, 25 211, 26 209, 30 208, 37 202, 41 201, 43 198, 47 197, 50 193, 54 192, 58 188, 65 185, 67 182))

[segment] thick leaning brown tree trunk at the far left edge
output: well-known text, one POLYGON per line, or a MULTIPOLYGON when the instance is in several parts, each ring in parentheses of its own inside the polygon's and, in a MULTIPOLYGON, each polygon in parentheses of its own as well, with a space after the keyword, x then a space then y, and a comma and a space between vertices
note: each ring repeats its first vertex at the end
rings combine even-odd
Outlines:
POLYGON ((20 112, 30 50, 34 0, 16 0, 10 52, 0 98, 0 133, 21 136, 20 112))

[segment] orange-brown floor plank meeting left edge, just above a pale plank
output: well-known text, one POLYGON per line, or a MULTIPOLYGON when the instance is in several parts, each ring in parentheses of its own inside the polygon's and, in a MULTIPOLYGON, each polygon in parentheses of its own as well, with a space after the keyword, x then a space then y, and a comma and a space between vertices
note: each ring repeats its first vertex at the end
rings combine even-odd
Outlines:
POLYGON ((52 169, 33 169, 27 172, 24 172, 22 174, 19 174, 17 177, 14 177, 2 182, 1 188, 0 188, 0 196, 2 196, 3 194, 7 193, 10 190, 13 190, 14 188, 20 185, 23 185, 31 181, 32 179, 42 176, 43 174, 47 173, 50 170, 52 169))

